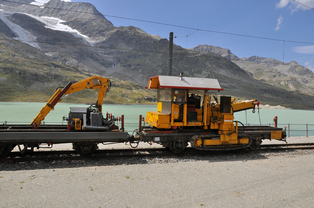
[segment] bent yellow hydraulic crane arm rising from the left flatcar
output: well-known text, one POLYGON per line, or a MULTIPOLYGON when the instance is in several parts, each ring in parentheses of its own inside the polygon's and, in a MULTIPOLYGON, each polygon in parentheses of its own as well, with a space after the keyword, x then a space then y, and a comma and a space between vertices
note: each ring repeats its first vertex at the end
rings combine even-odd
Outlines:
POLYGON ((65 86, 62 90, 57 89, 55 94, 50 98, 50 100, 47 102, 47 104, 41 109, 41 111, 38 113, 38 115, 34 118, 31 125, 36 127, 41 125, 41 121, 45 119, 47 114, 54 109, 55 105, 60 102, 63 98, 61 98, 63 95, 69 95, 72 92, 84 90, 84 89, 99 89, 98 91, 98 99, 96 106, 98 110, 102 111, 102 101, 104 100, 104 97, 106 95, 106 92, 111 87, 111 81, 107 78, 101 77, 101 76, 92 76, 87 79, 84 79, 82 81, 79 81, 75 84, 72 84, 69 82, 67 86, 65 86))

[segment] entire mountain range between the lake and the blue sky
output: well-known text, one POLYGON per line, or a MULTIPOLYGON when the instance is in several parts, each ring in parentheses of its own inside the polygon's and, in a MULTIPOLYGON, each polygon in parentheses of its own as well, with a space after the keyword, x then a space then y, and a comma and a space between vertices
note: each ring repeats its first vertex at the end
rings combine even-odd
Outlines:
MULTIPOLYGON (((35 6, 33 0, 15 2, 0 4, 1 101, 41 101, 40 97, 46 99, 67 81, 91 74, 114 80, 107 97, 112 96, 111 102, 156 101, 154 92, 145 92, 143 86, 149 77, 167 75, 167 39, 133 26, 115 27, 90 3, 50 0, 35 6)), ((183 58, 173 60, 172 74, 218 79, 224 88, 221 94, 239 99, 314 109, 310 70, 296 62, 289 68, 263 63, 277 60, 240 59, 229 52, 208 45, 187 50, 174 44, 174 57, 183 58)), ((84 93, 86 100, 91 99, 84 93)))

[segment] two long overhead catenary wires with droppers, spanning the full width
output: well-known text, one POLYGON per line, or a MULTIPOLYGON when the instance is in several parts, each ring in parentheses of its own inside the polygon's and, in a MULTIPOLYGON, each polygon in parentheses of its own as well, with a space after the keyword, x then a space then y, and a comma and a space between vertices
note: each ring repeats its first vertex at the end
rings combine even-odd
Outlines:
MULTIPOLYGON (((57 9, 57 10, 64 10, 64 11, 71 11, 71 12, 78 12, 78 13, 86 13, 86 14, 94 14, 94 15, 100 15, 100 16, 106 16, 106 17, 114 17, 114 18, 122 18, 122 19, 128 19, 128 20, 134 20, 134 21, 142 21, 147 23, 156 23, 156 24, 162 24, 162 25, 168 25, 168 26, 174 26, 174 27, 180 27, 180 28, 186 28, 186 29, 194 29, 196 31, 207 31, 207 32, 214 32, 214 33, 221 33, 221 34, 230 34, 230 35, 238 35, 243 37, 251 37, 251 38, 258 38, 258 39, 268 39, 268 40, 276 40, 276 41, 282 41, 282 42, 291 42, 291 43, 303 43, 303 44, 314 44, 310 42, 300 42, 300 41, 290 41, 290 40, 280 40, 280 39, 271 39, 271 38, 263 38, 263 37, 257 37, 257 36, 250 36, 250 35, 243 35, 243 34, 233 34, 233 33, 226 33, 226 32, 218 32, 218 31, 212 31, 212 30, 205 30, 205 29, 195 29, 190 27, 184 27, 184 26, 178 26, 178 25, 172 25, 172 24, 166 24, 166 23, 158 23, 158 22, 152 22, 152 21, 146 21, 146 20, 139 20, 139 19, 133 19, 133 18, 124 18, 124 17, 117 17, 117 16, 111 16, 111 15, 103 15, 103 14, 97 14, 97 13, 89 13, 89 12, 82 12, 82 11, 75 11, 75 10, 69 10, 69 9, 61 9, 61 8, 52 8, 52 7, 45 7, 45 6, 38 6, 34 4, 25 4, 25 3, 19 3, 14 1, 8 1, 8 0, 0 0, 10 3, 18 3, 23 5, 30 5, 30 6, 36 6, 41 8, 47 8, 47 9, 57 9)), ((48 11, 47 11, 48 13, 48 11)), ((48 15, 47 15, 48 16, 48 15)), ((192 32, 192 33, 194 33, 192 32)), ((47 33, 48 33, 48 17, 47 17, 47 33)), ((191 33, 191 34, 192 34, 191 33)), ((190 34, 189 34, 190 35, 190 34)), ((187 36, 189 36, 187 35, 187 36)), ((186 37, 187 37, 186 36, 186 37)), ((179 36, 184 37, 184 36, 179 36)), ((8 40, 8 41, 20 41, 20 42, 30 42, 30 43, 42 43, 42 44, 58 44, 58 45, 71 45, 71 46, 81 46, 81 47, 94 47, 94 48, 104 48, 104 49, 119 49, 119 50, 133 50, 133 51, 141 51, 141 52, 150 52, 150 53, 161 53, 161 54, 168 54, 168 52, 158 52, 158 51, 148 51, 148 50, 139 50, 139 49, 120 49, 120 48, 112 48, 112 47, 103 47, 103 46, 90 46, 90 45, 78 45, 78 44, 61 44, 61 43, 49 43, 48 39, 46 39, 46 42, 39 42, 39 41, 25 41, 25 40, 16 40, 16 39, 3 39, 0 38, 0 40, 8 40)), ((256 63, 268 63, 268 64, 276 64, 276 65, 291 65, 291 66, 302 66, 302 65, 293 65, 293 64, 280 64, 280 63, 272 63, 272 62, 265 62, 265 61, 252 61, 252 60, 241 60, 241 59, 230 59, 225 57, 212 57, 212 56, 204 56, 204 55, 188 55, 188 54, 176 54, 174 55, 184 55, 185 57, 189 56, 201 56, 205 58, 216 58, 216 59, 226 59, 226 60, 240 60, 240 61, 247 61, 247 62, 256 62, 256 63)), ((181 57, 179 57, 181 58, 181 57)), ((306 68, 314 68, 311 66, 302 66, 306 68)))

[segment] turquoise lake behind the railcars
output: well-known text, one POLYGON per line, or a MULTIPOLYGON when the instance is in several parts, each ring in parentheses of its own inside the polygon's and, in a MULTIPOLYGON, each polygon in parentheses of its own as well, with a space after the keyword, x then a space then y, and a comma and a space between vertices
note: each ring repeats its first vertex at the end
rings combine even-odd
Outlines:
MULTIPOLYGON (((0 122, 30 123, 44 105, 45 103, 0 102, 0 122)), ((58 103, 54 111, 51 111, 44 121, 48 124, 49 122, 62 122, 62 117, 68 116, 70 107, 89 107, 89 105, 58 103)), ((112 113, 115 117, 124 115, 125 129, 127 131, 133 131, 138 127, 139 115, 145 117, 147 111, 157 111, 157 106, 151 105, 103 105, 102 108, 104 115, 106 115, 106 112, 112 113)), ((278 127, 288 127, 290 124, 290 136, 306 136, 306 124, 308 124, 308 130, 310 130, 308 136, 314 136, 314 111, 263 108, 259 109, 259 114, 258 109, 256 109, 255 113, 252 113, 252 110, 236 112, 234 120, 240 121, 244 125, 246 123, 260 125, 261 120, 263 125, 273 126, 273 118, 275 116, 278 117, 278 127)))

